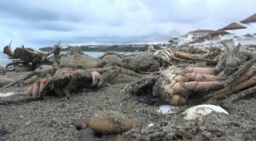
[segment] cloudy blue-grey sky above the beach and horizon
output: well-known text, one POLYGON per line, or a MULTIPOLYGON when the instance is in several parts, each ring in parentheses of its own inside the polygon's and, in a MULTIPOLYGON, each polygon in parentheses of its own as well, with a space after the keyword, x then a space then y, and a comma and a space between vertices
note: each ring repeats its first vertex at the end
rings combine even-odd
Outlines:
MULTIPOLYGON (((0 51, 82 44, 167 42, 172 35, 218 30, 256 13, 255 0, 0 0, 0 51)), ((240 23, 241 24, 241 23, 240 23)), ((256 33, 242 24, 237 35, 256 33)))

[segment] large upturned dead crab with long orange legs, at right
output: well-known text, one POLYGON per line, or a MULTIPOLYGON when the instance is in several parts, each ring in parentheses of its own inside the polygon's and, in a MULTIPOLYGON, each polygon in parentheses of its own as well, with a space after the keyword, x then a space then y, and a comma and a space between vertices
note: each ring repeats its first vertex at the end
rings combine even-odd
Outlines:
POLYGON ((163 100, 174 106, 180 106, 187 102, 192 94, 201 93, 204 102, 213 103, 217 99, 226 99, 226 102, 240 99, 256 89, 256 61, 255 55, 247 55, 246 60, 238 57, 240 44, 227 49, 222 61, 215 68, 178 68, 172 66, 161 71, 160 75, 150 75, 134 82, 124 91, 139 95, 148 89, 152 90, 153 96, 160 96, 163 100), (232 95, 234 94, 235 95, 232 95))

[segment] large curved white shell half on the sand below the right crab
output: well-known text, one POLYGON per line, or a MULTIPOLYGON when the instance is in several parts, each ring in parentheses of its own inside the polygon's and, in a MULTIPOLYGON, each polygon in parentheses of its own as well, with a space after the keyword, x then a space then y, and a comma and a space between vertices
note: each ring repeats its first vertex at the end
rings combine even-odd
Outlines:
POLYGON ((183 111, 183 114, 185 115, 184 118, 185 120, 194 120, 196 118, 202 118, 205 115, 208 115, 212 111, 216 111, 219 113, 227 113, 227 111, 220 106, 215 106, 215 105, 209 105, 209 104, 204 104, 204 105, 198 105, 194 106, 192 108, 186 109, 183 111))

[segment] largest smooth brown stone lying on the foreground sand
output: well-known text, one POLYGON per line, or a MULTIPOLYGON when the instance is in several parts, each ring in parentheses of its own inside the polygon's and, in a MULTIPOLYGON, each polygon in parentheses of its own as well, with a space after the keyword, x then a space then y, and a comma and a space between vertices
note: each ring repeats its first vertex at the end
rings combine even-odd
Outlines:
POLYGON ((132 128, 132 121, 123 113, 109 111, 91 118, 89 127, 97 133, 121 133, 132 128))

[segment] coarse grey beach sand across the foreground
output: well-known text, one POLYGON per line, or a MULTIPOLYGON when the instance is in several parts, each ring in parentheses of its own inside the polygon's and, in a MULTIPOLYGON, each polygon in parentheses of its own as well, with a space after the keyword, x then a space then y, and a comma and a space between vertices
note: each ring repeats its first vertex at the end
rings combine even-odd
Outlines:
MULTIPOLYGON (((25 73, 7 72, 12 79, 25 73)), ((0 129, 5 129, 5 140, 78 140, 78 130, 73 119, 93 117, 99 111, 119 111, 132 120, 133 128, 127 133, 97 136, 99 140, 117 140, 122 135, 152 140, 256 140, 256 97, 235 101, 224 113, 211 113, 202 120, 184 120, 181 113, 162 115, 156 110, 165 104, 155 98, 156 104, 137 101, 137 96, 121 90, 129 83, 111 84, 105 88, 74 93, 70 99, 47 97, 33 102, 0 105, 0 129), (154 124, 148 127, 148 124, 154 124), (142 131, 140 130, 142 126, 142 131), (150 133, 154 133, 150 135, 150 133), (159 136, 157 138, 157 136, 159 136), (186 139, 187 138, 187 139, 186 139)), ((1 89, 1 93, 24 93, 26 86, 1 89)), ((191 101, 179 109, 195 104, 191 101)), ((1 139, 0 139, 1 140, 1 139)))

